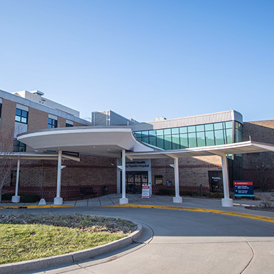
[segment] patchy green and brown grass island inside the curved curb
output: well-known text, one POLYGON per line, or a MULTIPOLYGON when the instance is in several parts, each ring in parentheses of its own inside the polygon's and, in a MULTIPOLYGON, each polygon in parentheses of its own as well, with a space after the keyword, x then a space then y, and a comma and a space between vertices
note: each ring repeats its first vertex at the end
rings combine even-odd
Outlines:
POLYGON ((82 215, 0 215, 0 264, 60 255, 118 240, 136 226, 82 215))

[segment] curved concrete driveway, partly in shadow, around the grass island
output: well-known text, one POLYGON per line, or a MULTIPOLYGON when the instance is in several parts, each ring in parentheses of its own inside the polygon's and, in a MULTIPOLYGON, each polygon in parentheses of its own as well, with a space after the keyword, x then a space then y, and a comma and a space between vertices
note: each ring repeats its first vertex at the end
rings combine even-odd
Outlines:
POLYGON ((115 216, 145 229, 138 242, 123 249, 29 273, 273 273, 274 269, 274 223, 266 221, 208 212, 102 206, 0 213, 10 211, 115 216))

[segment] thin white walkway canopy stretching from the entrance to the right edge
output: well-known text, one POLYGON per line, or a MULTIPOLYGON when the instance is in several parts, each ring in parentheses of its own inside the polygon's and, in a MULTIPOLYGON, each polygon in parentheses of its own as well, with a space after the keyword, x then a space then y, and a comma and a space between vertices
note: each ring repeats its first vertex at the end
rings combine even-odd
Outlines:
POLYGON ((228 145, 216 145, 211 147, 193 147, 190 149, 177 149, 169 151, 153 151, 140 153, 126 153, 129 159, 153 159, 153 158, 180 158, 208 155, 244 154, 255 152, 274 151, 274 145, 261 142, 236 142, 228 145))

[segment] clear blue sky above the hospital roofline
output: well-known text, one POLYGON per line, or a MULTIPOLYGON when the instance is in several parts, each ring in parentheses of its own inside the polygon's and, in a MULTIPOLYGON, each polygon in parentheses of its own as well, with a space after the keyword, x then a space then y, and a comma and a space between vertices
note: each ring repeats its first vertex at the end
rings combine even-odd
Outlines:
POLYGON ((274 119, 274 1, 0 0, 0 89, 152 121, 274 119))

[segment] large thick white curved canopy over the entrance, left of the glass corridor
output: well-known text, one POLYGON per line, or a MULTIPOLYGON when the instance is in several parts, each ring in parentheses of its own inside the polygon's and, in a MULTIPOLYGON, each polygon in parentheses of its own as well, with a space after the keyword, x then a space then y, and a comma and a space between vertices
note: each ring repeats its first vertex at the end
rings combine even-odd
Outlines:
POLYGON ((20 142, 34 149, 73 151, 92 155, 120 157, 127 151, 153 151, 138 142, 131 128, 126 127, 69 127, 29 132, 18 136, 20 142))

